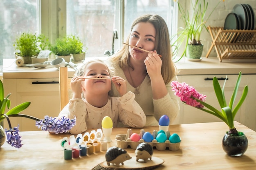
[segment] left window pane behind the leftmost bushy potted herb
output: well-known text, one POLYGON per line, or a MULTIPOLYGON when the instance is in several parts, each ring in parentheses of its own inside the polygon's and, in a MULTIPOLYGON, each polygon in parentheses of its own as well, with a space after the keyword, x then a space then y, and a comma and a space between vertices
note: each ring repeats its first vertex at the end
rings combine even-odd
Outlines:
MULTIPOLYGON (((15 58, 13 42, 23 32, 40 32, 39 0, 0 1, 0 65, 3 58, 15 58)), ((2 69, 1 69, 2 70, 2 69)))

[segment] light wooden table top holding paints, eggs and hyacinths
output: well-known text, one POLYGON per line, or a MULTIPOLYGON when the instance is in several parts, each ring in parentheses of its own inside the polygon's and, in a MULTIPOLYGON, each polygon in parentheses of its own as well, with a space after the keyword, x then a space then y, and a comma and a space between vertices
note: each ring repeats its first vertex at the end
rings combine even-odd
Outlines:
MULTIPOLYGON (((182 142, 180 150, 159 151, 154 149, 153 156, 164 159, 164 163, 157 170, 188 169, 188 170, 255 170, 256 168, 256 132, 243 124, 235 122, 238 131, 243 131, 249 142, 244 155, 230 157, 221 146, 222 137, 228 127, 223 122, 179 124, 170 125, 170 133, 180 135, 182 142)), ((112 130, 112 142, 108 148, 117 146, 115 136, 127 132, 128 128, 114 128, 112 130)), ((145 132, 152 133, 158 130, 158 126, 143 128, 145 132)), ((139 133, 141 129, 132 129, 133 133, 139 133)), ((90 130, 89 130, 90 132, 90 130)), ((51 135, 45 131, 20 132, 23 146, 20 149, 11 147, 5 143, 0 148, 0 169, 83 169, 89 170, 105 161, 106 151, 94 153, 85 157, 72 160, 64 160, 61 140, 70 134, 51 135)), ((133 149, 125 149, 131 157, 135 156, 133 149)), ((124 162, 125 163, 125 162, 124 162)))

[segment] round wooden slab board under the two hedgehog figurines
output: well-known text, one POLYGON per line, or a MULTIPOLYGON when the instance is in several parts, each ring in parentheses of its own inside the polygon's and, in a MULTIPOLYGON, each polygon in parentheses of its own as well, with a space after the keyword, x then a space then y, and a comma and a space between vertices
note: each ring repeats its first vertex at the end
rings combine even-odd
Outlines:
POLYGON ((107 162, 104 161, 92 168, 92 170, 153 170, 162 165, 162 163, 164 163, 164 160, 158 157, 152 157, 151 160, 148 159, 148 161, 144 163, 144 160, 142 159, 139 159, 137 162, 136 157, 133 156, 132 159, 124 161, 124 165, 120 163, 119 167, 114 166, 112 163, 110 163, 110 166, 108 166, 107 162))

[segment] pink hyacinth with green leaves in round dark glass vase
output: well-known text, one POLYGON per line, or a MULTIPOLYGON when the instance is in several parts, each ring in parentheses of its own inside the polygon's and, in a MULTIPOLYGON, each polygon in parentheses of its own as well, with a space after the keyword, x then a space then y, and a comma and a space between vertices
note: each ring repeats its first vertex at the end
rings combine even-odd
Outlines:
POLYGON ((241 76, 242 73, 239 72, 236 85, 234 87, 234 91, 229 100, 229 103, 226 102, 224 94, 224 88, 227 78, 224 82, 222 89, 220 87, 218 79, 216 77, 213 78, 213 88, 220 104, 220 110, 204 102, 206 95, 202 95, 197 92, 193 86, 189 86, 186 83, 179 83, 177 81, 171 82, 171 86, 173 87, 173 91, 175 91, 175 95, 179 96, 184 104, 191 105, 197 109, 210 113, 213 116, 220 118, 223 122, 227 124, 227 126, 229 127, 229 131, 225 133, 222 139, 222 148, 227 153, 227 155, 230 156, 243 155, 248 147, 248 140, 246 135, 243 132, 237 131, 234 126, 234 118, 236 116, 236 113, 240 109, 248 93, 248 86, 246 85, 243 89, 243 93, 239 101, 236 105, 234 105, 234 101, 236 99, 239 84, 241 81, 241 76), (205 109, 204 107, 206 107, 207 109, 205 109))

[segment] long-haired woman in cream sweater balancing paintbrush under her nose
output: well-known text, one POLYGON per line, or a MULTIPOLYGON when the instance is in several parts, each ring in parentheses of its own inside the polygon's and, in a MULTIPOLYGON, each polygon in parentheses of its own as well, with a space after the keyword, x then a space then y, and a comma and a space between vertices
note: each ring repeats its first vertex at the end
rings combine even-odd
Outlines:
MULTIPOLYGON (((124 45, 109 59, 115 75, 124 78, 128 82, 127 90, 135 93, 135 100, 146 114, 146 126, 158 125, 164 114, 173 122, 179 105, 170 83, 176 79, 177 71, 166 22, 159 15, 137 18, 126 43, 150 53, 124 45)), ((116 89, 112 88, 112 95, 119 96, 116 89)))

